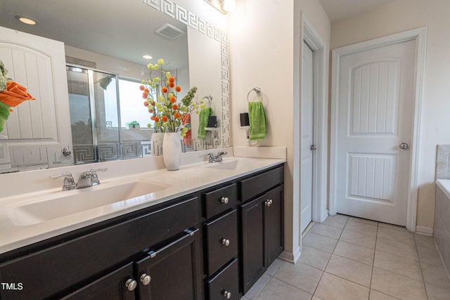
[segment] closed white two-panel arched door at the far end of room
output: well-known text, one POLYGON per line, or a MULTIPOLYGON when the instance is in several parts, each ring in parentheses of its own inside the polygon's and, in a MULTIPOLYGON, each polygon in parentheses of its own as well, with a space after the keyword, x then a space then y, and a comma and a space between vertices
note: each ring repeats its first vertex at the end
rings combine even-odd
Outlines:
POLYGON ((406 226, 416 42, 340 60, 338 213, 406 226))

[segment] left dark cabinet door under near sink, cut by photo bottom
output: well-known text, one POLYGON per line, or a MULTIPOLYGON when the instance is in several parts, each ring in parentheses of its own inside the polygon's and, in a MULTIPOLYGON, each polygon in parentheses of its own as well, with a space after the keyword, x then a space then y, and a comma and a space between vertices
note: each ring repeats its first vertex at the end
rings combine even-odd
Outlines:
POLYGON ((133 278, 133 263, 128 263, 63 299, 133 300, 136 298, 134 294, 136 285, 136 279, 133 278))

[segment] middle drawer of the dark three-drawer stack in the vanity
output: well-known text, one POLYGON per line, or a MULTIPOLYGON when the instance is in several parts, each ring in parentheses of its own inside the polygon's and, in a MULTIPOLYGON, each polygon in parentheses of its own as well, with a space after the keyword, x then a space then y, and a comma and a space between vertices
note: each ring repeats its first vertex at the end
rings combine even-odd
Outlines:
POLYGON ((235 210, 205 224, 208 276, 238 256, 238 213, 235 210))

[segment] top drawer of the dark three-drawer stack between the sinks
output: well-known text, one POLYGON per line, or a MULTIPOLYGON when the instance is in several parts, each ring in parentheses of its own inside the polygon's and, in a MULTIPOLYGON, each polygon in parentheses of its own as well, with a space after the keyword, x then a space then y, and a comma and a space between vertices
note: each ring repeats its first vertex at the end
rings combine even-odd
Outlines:
POLYGON ((205 193, 205 217, 206 219, 234 207, 238 198, 236 183, 219 188, 210 193, 205 193))

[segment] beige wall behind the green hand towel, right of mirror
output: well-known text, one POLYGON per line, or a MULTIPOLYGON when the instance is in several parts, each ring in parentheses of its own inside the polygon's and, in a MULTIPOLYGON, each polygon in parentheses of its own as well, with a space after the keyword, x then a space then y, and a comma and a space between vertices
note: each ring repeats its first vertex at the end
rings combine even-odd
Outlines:
MULTIPOLYGON (((300 11, 304 12, 328 45, 330 22, 318 0, 237 1, 230 14, 231 129, 232 145, 246 145, 239 113, 248 111, 247 94, 255 86, 262 90, 268 133, 258 146, 286 146, 285 251, 298 251, 299 199, 293 197, 294 34, 300 34, 300 11), (295 5, 294 5, 295 4, 295 5), (295 6, 295 10, 294 10, 295 6)), ((328 68, 327 68, 328 70, 328 68)), ((297 70, 298 72, 298 70, 297 70)), ((328 78, 328 74, 327 74, 328 78)), ((255 94, 253 94, 255 96, 255 94)))

